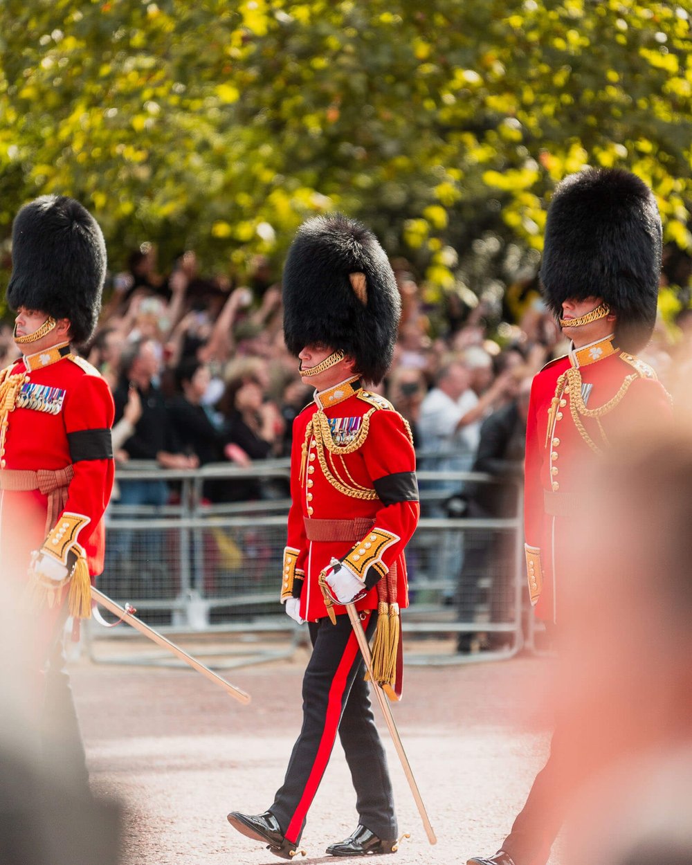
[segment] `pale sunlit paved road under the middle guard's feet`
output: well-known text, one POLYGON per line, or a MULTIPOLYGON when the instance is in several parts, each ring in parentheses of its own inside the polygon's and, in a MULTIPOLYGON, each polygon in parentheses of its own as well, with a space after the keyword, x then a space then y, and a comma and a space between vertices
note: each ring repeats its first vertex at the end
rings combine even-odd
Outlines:
MULTIPOLYGON (((99 657, 111 656, 110 646, 99 643, 99 657)), ((272 802, 300 725, 306 657, 298 649, 286 661, 227 670, 252 694, 249 706, 192 671, 73 662, 93 788, 125 808, 124 865, 279 862, 236 833, 226 814, 272 802)), ((396 862, 454 865, 497 849, 547 752, 549 673, 549 661, 535 657, 407 667, 394 717, 438 843, 427 843, 388 741, 400 829, 411 832, 396 862)), ((378 708, 375 716, 379 723, 378 708)), ((337 743, 302 839, 310 861, 335 862, 325 847, 355 826, 337 743)), ((556 853, 550 865, 559 865, 556 853)))

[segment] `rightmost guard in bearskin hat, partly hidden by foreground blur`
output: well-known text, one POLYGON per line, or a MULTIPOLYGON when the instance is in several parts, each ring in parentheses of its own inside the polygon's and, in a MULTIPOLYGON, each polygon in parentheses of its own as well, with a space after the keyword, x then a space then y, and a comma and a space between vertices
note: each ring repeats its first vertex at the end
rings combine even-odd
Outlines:
MULTIPOLYGON (((541 284, 572 346, 531 388, 524 494, 529 593, 548 631, 569 612, 565 576, 579 569, 590 541, 575 533, 575 520, 602 493, 599 485, 584 490, 583 473, 671 417, 656 374, 631 354, 653 330, 660 266, 661 221, 638 177, 588 169, 555 189, 541 284)), ((567 804, 554 793, 567 746, 558 717, 548 762, 502 848, 468 865, 545 865, 567 804)))

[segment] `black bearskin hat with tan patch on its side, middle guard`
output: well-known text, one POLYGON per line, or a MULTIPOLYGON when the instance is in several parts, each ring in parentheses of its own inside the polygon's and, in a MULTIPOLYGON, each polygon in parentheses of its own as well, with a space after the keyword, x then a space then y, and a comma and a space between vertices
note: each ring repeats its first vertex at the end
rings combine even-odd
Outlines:
POLYGON ((283 294, 285 343, 293 355, 322 343, 355 358, 365 381, 382 380, 401 301, 375 234, 341 214, 304 222, 285 260, 283 294))

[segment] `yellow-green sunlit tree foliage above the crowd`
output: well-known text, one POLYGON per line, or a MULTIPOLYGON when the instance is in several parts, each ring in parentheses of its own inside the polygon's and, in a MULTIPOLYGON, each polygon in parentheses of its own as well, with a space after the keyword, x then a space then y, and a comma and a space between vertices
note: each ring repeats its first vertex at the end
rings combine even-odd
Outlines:
POLYGON ((590 163, 692 242, 688 0, 5 0, 0 54, 0 237, 64 192, 117 266, 154 240, 241 268, 340 208, 478 291, 590 163))

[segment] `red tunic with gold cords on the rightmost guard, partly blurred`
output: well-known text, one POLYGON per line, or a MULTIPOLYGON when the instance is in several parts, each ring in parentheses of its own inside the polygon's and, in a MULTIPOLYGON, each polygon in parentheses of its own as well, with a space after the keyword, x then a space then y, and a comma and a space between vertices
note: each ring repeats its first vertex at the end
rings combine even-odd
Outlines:
POLYGON ((570 352, 535 376, 526 430, 524 539, 539 618, 557 620, 561 573, 574 552, 570 516, 588 507, 585 469, 618 439, 670 417, 670 397, 654 371, 614 349, 612 338, 570 352))

